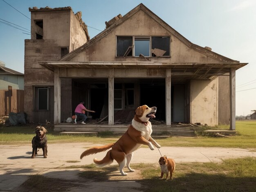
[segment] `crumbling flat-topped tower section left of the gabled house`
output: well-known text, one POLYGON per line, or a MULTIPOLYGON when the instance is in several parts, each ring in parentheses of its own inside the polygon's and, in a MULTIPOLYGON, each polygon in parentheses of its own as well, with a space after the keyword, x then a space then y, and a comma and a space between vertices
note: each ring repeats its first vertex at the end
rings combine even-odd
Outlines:
POLYGON ((54 72, 38 62, 57 61, 90 37, 81 12, 74 14, 71 7, 33 7, 29 11, 31 39, 25 40, 24 110, 29 122, 53 122, 54 72))

